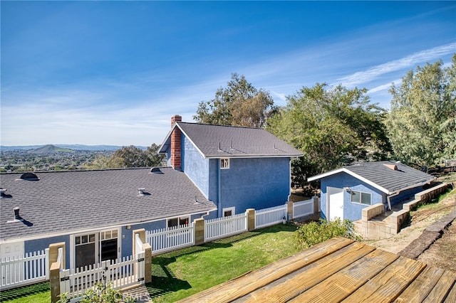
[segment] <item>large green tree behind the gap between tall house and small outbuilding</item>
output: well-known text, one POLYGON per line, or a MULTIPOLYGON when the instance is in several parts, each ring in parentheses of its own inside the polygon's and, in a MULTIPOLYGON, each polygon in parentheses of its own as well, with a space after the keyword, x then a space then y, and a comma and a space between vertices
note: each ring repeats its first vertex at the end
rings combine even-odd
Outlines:
POLYGON ((303 152, 292 165, 293 186, 299 187, 308 176, 354 160, 388 158, 384 115, 385 110, 371 104, 366 89, 317 83, 287 97, 287 105, 268 119, 266 129, 303 152))

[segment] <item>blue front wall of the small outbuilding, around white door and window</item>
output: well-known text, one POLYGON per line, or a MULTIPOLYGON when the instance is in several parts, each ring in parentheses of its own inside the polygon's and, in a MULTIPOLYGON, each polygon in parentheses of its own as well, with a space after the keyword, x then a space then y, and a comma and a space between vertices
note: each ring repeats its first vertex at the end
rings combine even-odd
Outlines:
MULTIPOLYGON (((341 172, 339 174, 327 176, 321 179, 321 218, 327 219, 328 210, 326 208, 326 191, 327 187, 344 188, 349 187, 353 191, 362 191, 364 193, 371 193, 371 205, 383 203, 383 206, 388 206, 385 193, 379 191, 377 188, 365 184, 359 179, 341 172)), ((343 191, 343 218, 348 220, 360 220, 363 208, 368 205, 361 203, 351 202, 351 193, 343 191)))

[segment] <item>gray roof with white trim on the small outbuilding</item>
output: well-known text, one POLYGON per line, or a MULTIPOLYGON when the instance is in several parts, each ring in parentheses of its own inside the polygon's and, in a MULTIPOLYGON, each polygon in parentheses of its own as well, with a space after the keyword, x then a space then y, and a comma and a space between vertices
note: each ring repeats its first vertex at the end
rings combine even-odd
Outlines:
POLYGON ((406 188, 413 188, 435 179, 434 176, 418 171, 410 166, 395 161, 358 162, 356 164, 343 166, 341 169, 334 169, 318 176, 312 176, 309 181, 324 178, 340 172, 346 172, 358 179, 368 181, 374 187, 385 193, 394 193, 406 188), (397 166, 397 170, 388 166, 397 166))

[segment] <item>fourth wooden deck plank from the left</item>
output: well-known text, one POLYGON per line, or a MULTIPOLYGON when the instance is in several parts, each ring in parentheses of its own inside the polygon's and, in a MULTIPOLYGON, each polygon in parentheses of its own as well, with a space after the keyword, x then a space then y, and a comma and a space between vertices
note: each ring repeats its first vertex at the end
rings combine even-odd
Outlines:
POLYGON ((344 302, 392 302, 415 280, 426 265, 399 257, 382 272, 359 287, 344 302))

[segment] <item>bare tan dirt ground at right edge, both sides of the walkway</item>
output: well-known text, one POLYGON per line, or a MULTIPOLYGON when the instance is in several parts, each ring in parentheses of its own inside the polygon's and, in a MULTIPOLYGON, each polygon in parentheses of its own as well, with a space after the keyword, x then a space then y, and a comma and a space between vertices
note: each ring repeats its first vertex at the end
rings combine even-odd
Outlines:
MULTIPOLYGON (((402 230, 400 230, 400 233, 398 233, 398 235, 395 235, 394 237, 388 239, 366 240, 365 242, 369 245, 381 248, 382 250, 398 254, 400 251, 404 250, 408 245, 410 245, 410 243, 412 243, 413 240, 420 237, 420 235, 423 234, 425 228, 429 227, 430 225, 432 225, 432 223, 435 223, 435 221, 440 220, 440 218, 446 216, 448 213, 454 211, 455 209, 456 191, 453 190, 439 203, 434 203, 430 206, 422 207, 418 209, 418 211, 412 212, 410 224, 402 230)), ((455 230, 455 226, 456 223, 453 222, 453 224, 451 225, 451 230, 455 230)), ((453 263, 452 267, 454 268, 456 266, 455 233, 452 233, 449 229, 447 232, 444 233, 442 238, 433 243, 429 249, 425 250, 425 252, 426 254, 422 253, 418 257, 418 260, 420 260, 420 257, 423 256, 423 262, 425 262, 424 260, 441 260, 442 264, 444 264, 444 262, 453 263), (439 245, 440 248, 437 248, 437 246, 439 245), (444 245, 444 247, 442 247, 442 245, 444 245), (448 253, 447 250, 451 251, 452 254, 448 253)))

